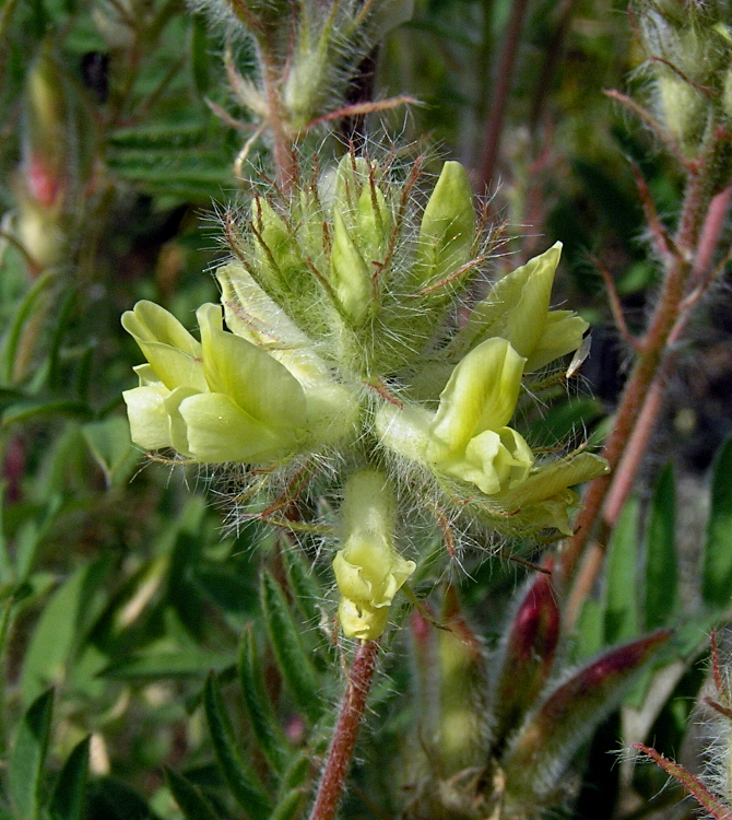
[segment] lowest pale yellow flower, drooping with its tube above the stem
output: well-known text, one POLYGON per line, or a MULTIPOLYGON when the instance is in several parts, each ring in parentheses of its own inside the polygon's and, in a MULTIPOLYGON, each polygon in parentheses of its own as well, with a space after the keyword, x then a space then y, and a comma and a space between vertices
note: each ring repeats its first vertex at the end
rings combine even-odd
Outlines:
POLYGON ((395 500, 377 470, 356 472, 345 487, 343 549, 333 559, 346 637, 374 641, 389 620, 394 595, 416 569, 393 548, 395 500))

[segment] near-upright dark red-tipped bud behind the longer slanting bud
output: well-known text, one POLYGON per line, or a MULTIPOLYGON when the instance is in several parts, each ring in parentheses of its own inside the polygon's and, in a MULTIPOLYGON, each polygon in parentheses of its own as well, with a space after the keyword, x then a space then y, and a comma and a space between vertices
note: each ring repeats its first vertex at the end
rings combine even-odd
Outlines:
POLYGON ((538 573, 504 639, 494 691, 495 743, 519 726, 552 673, 560 613, 552 576, 538 573))

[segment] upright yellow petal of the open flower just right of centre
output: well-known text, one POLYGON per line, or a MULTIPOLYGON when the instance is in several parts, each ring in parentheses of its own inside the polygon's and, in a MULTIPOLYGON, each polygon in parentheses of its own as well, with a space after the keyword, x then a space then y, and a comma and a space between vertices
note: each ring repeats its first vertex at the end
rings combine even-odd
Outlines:
POLYGON ((461 453, 483 431, 505 426, 516 409, 524 362, 506 339, 488 339, 472 350, 440 395, 435 438, 450 453, 461 453))

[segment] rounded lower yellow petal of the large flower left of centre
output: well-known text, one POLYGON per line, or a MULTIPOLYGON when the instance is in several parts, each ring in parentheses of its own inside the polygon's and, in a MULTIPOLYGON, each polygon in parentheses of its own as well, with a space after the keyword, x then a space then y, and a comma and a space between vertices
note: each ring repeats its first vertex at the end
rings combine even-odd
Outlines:
POLYGON ((268 464, 287 455, 295 445, 294 436, 261 424, 223 394, 191 396, 178 410, 186 423, 189 449, 199 461, 268 464))

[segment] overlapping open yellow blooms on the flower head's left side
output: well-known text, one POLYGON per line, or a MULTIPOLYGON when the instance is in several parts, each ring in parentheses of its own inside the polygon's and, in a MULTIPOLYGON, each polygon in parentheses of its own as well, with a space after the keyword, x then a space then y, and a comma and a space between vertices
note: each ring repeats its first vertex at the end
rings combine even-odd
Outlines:
POLYGON ((322 391, 312 377, 302 384, 267 350, 225 331, 219 305, 202 305, 197 317, 201 342, 152 302, 122 317, 150 363, 137 368, 140 386, 125 393, 137 444, 209 464, 262 464, 353 424, 353 407, 329 393, 338 386, 327 376, 322 391))

